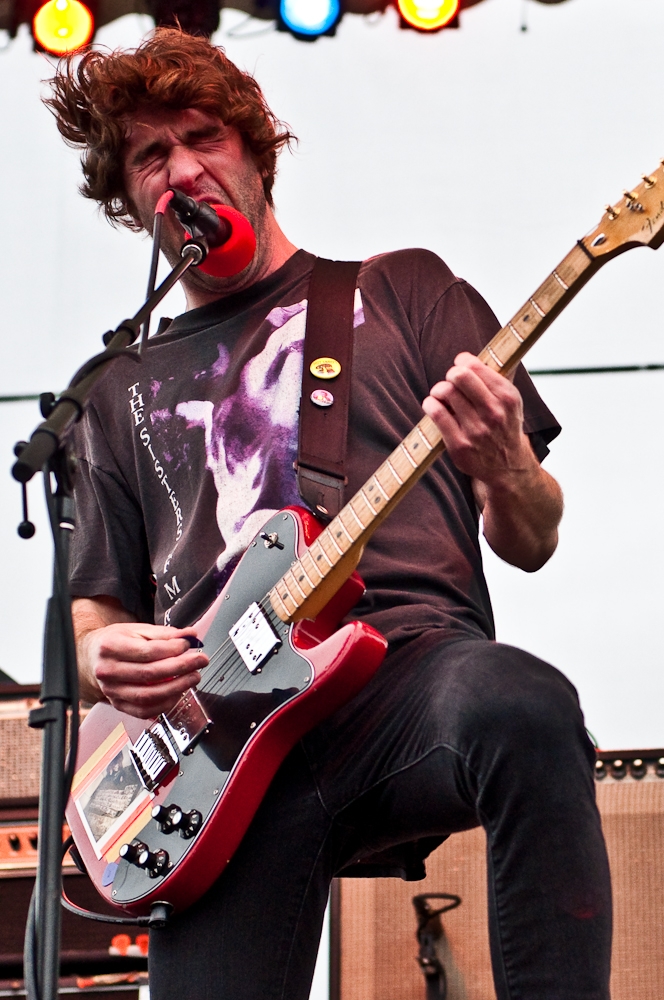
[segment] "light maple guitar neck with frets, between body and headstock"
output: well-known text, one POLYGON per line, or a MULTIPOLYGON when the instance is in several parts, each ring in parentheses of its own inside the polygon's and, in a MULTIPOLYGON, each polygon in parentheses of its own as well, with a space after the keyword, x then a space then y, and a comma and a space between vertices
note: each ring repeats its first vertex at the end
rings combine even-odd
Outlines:
MULTIPOLYGON (((487 344, 480 360, 509 375, 603 262, 577 243, 487 344)), ((282 621, 316 617, 353 572, 381 521, 444 449, 440 431, 424 416, 270 591, 282 621)))

